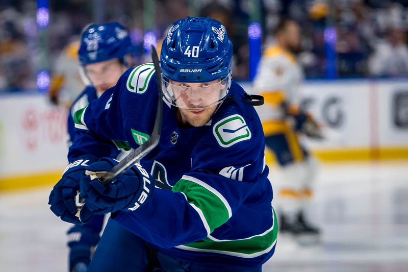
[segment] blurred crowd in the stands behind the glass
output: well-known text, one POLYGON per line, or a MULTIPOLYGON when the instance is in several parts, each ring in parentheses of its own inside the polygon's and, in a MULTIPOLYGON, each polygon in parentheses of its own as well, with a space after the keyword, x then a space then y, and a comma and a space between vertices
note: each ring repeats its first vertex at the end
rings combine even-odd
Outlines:
MULTIPOLYGON (((119 21, 131 31, 135 55, 146 61, 144 32, 147 1, 60 0, 49 3, 47 67, 58 66, 63 48, 94 22, 97 9, 104 21, 119 21), (102 6, 98 6, 102 5, 102 6)), ((234 78, 249 78, 248 0, 156 0, 154 32, 160 40, 168 24, 192 13, 222 21, 234 48, 234 78)), ((263 46, 272 30, 288 16, 302 27, 299 61, 307 78, 325 78, 327 40, 335 38, 337 77, 408 76, 408 0, 261 0, 263 46), (333 27, 336 31, 329 32, 333 27), (325 42, 326 41, 326 42, 325 42)), ((29 0, 0 3, 0 92, 36 91, 39 67, 37 5, 29 0)))

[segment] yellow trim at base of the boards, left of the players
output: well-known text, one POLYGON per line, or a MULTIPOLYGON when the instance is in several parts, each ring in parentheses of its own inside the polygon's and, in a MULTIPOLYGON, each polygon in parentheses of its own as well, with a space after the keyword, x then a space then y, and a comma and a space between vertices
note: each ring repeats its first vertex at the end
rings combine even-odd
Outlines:
POLYGON ((63 170, 23 176, 0 177, 0 191, 27 189, 46 185, 52 187, 61 179, 62 171, 63 170))

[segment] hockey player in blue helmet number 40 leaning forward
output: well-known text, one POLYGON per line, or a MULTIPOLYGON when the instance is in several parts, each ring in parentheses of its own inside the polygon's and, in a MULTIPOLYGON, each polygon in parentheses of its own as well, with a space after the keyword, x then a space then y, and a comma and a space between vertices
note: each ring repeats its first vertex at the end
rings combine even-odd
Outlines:
POLYGON ((49 195, 62 220, 111 212, 88 271, 261 271, 274 253, 276 216, 264 134, 251 96, 232 82, 233 47, 217 20, 187 17, 161 50, 163 126, 150 153, 109 185, 111 140, 137 148, 154 127, 154 65, 127 70, 75 113, 71 162, 49 195), (155 187, 156 184, 156 187, 155 187))

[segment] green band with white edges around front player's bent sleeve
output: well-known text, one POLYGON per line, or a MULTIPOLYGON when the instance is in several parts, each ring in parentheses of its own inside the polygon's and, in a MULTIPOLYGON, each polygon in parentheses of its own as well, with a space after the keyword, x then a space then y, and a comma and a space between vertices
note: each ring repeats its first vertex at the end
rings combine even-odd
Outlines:
MULTIPOLYGON (((191 177, 183 176, 183 178, 191 177)), ((210 186, 206 188, 191 180, 181 179, 173 186, 172 191, 184 193, 187 201, 202 211, 210 227, 210 233, 230 218, 229 207, 227 208, 225 203, 217 196, 220 193, 210 186)))

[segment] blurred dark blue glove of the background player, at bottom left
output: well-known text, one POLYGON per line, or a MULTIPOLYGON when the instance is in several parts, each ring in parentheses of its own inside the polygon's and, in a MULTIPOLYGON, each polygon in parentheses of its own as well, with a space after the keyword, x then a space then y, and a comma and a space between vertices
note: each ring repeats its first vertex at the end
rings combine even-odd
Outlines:
POLYGON ((91 255, 99 242, 99 233, 83 226, 74 226, 68 231, 69 271, 86 272, 91 255))

